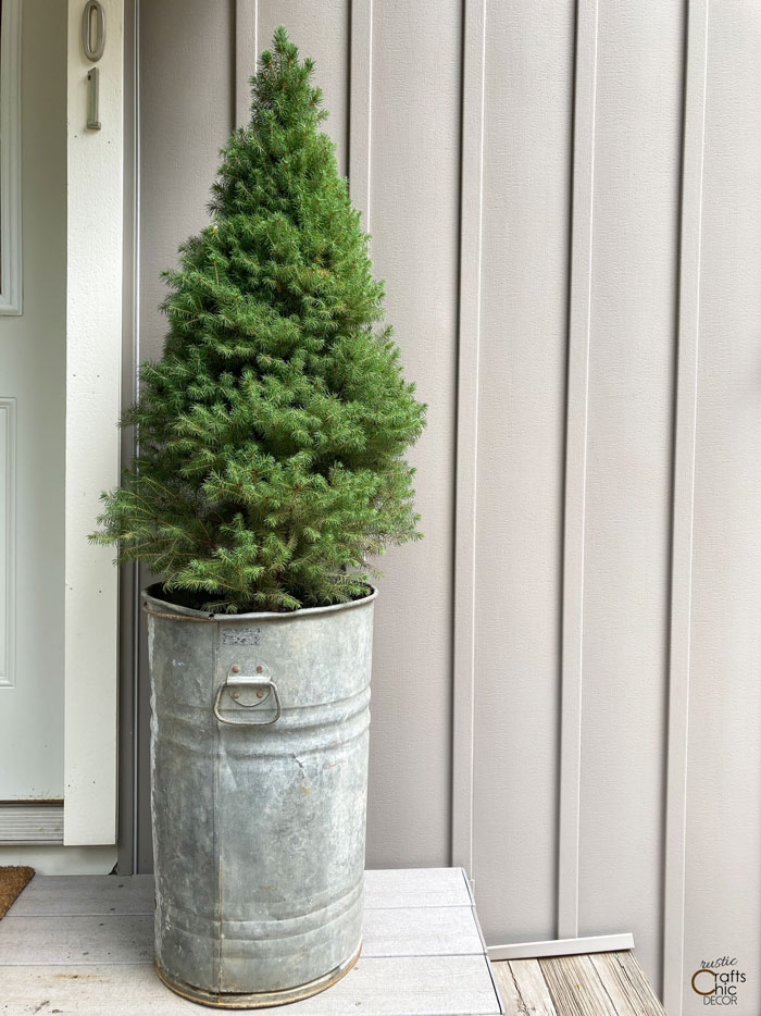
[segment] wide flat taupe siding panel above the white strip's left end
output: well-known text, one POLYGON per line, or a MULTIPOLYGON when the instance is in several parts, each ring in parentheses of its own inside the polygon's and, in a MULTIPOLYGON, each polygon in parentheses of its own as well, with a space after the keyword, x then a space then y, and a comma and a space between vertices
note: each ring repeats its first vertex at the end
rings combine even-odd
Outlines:
POLYGON ((574 4, 486 20, 474 871, 503 942, 556 932, 574 4))

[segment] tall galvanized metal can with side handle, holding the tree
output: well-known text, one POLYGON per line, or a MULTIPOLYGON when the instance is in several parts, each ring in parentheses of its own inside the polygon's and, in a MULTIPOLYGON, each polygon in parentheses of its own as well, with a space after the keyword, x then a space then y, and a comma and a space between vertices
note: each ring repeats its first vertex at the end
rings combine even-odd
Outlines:
POLYGON ((208 615, 144 593, 151 670, 155 967, 253 1008, 359 956, 375 591, 208 615))

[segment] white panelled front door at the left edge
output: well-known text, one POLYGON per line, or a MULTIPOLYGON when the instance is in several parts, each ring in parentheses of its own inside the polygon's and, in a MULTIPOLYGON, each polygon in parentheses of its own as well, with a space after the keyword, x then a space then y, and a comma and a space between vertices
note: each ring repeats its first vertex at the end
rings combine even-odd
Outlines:
MULTIPOLYGON (((2 18, 0 74, 21 41, 21 101, 4 77, 0 139, 10 186, 21 137, 2 213, 21 201, 22 312, 0 305, 0 802, 13 802, 64 788, 66 4, 2 0, 2 18)), ((2 262, 16 262, 18 238, 2 233, 2 262)))

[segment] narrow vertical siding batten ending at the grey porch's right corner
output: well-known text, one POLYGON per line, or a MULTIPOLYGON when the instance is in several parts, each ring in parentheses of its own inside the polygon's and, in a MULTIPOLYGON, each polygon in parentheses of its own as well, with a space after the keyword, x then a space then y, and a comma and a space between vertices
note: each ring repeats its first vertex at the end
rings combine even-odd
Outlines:
POLYGON ((460 215, 457 492, 454 506, 454 642, 452 864, 473 877, 475 707, 476 456, 484 203, 486 0, 465 0, 460 215))

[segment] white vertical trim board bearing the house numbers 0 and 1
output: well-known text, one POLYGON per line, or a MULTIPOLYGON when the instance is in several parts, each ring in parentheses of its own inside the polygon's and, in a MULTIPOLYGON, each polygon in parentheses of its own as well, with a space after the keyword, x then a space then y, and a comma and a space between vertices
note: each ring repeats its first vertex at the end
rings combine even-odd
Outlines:
POLYGON ((120 478, 123 275, 123 0, 102 0, 100 131, 87 122, 83 4, 67 60, 64 843, 116 842, 118 583, 93 547, 100 494, 120 478))

